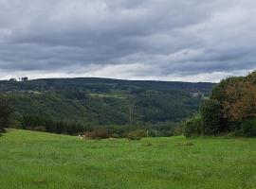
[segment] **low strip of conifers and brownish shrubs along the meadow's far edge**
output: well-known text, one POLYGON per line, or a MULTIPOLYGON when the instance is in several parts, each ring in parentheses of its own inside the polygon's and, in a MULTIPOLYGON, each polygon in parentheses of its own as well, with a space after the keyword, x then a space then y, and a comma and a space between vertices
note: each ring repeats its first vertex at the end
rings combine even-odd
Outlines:
MULTIPOLYGON (((174 123, 173 123, 174 124, 174 123)), ((84 134, 87 138, 131 138, 137 139, 142 136, 166 136, 171 135, 172 123, 168 123, 169 133, 165 129, 157 129, 155 126, 133 127, 129 125, 87 125, 76 122, 58 121, 40 116, 23 116, 21 120, 22 129, 46 131, 58 134, 77 135, 84 134)), ((166 126, 167 127, 167 126, 166 126)), ((174 127, 174 126, 173 126, 174 127)))

